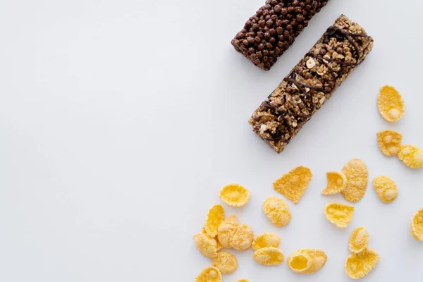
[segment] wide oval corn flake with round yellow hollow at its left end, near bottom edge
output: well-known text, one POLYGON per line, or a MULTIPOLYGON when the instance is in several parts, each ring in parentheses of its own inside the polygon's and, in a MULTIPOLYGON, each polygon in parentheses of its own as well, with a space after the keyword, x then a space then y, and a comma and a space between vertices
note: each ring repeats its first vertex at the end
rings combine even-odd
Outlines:
POLYGON ((322 250, 302 249, 289 255, 287 264, 296 274, 312 274, 326 264, 327 256, 322 250))

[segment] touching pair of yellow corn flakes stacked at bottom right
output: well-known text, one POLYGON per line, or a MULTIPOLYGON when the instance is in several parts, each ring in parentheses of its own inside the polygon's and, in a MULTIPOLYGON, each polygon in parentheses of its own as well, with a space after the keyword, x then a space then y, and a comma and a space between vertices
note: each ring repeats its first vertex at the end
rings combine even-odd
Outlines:
POLYGON ((369 233, 366 228, 355 228, 351 233, 348 248, 351 254, 345 262, 345 274, 353 279, 360 279, 372 271, 379 263, 379 255, 368 249, 369 233))

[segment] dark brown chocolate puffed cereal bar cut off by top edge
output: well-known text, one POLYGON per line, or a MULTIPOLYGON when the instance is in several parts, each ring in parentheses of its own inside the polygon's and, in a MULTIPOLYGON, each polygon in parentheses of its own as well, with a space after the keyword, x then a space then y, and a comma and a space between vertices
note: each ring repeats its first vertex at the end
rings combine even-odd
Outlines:
POLYGON ((329 0, 267 0, 232 39, 233 47, 269 71, 329 0))

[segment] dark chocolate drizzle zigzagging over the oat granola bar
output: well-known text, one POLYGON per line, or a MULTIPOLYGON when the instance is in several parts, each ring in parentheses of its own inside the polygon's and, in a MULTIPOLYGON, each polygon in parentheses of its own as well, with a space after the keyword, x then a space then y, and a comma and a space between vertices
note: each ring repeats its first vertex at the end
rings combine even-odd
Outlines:
POLYGON ((303 121, 303 123, 307 122, 309 118, 311 118, 314 111, 316 111, 316 105, 313 103, 313 94, 316 94, 317 92, 323 92, 324 94, 330 95, 336 90, 336 87, 338 86, 336 83, 336 80, 340 78, 344 73, 342 68, 343 67, 355 68, 355 66, 358 66, 362 62, 362 60, 367 54, 360 55, 360 49, 357 45, 357 42, 355 42, 356 37, 369 37, 369 36, 362 33, 351 33, 348 30, 336 27, 335 25, 329 27, 326 30, 324 39, 322 40, 321 43, 325 44, 326 46, 331 41, 331 38, 336 38, 338 42, 347 40, 351 46, 352 55, 355 59, 355 62, 353 63, 353 62, 341 61, 337 59, 324 58, 324 56, 319 56, 312 52, 307 53, 305 55, 305 59, 307 57, 313 58, 314 60, 319 61, 319 63, 324 65, 329 70, 329 74, 333 78, 333 83, 332 85, 329 85, 328 87, 312 86, 307 83, 298 81, 297 80, 298 73, 296 73, 295 71, 291 71, 290 75, 288 75, 283 80, 288 82, 288 85, 291 85, 293 89, 296 88, 302 94, 302 95, 301 94, 298 95, 298 97, 302 100, 304 104, 307 104, 307 100, 309 100, 308 104, 309 104, 311 113, 310 114, 295 114, 290 112, 287 109, 279 108, 277 106, 272 105, 271 102, 269 102, 269 100, 264 101, 261 104, 261 106, 266 109, 269 109, 270 111, 274 111, 274 114, 276 114, 277 116, 278 122, 281 125, 284 125, 288 129, 287 132, 284 130, 285 133, 282 133, 279 128, 276 128, 275 133, 269 133, 271 135, 270 137, 264 137, 265 140, 273 141, 273 142, 290 142, 292 137, 295 135, 294 133, 295 128, 293 128, 292 126, 293 121, 291 120, 290 117, 296 118, 297 120, 305 118, 306 120, 303 121), (334 71, 329 63, 338 64, 341 67, 341 71, 334 71), (289 137, 286 137, 286 133, 288 133, 289 137))

